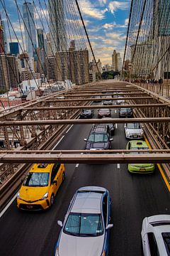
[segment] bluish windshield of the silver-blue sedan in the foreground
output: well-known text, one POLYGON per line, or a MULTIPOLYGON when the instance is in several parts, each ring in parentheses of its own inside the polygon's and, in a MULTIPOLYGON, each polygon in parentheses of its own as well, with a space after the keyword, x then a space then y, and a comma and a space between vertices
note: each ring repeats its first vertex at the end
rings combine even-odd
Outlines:
POLYGON ((64 233, 88 237, 103 235, 101 214, 70 213, 64 226, 64 233))

